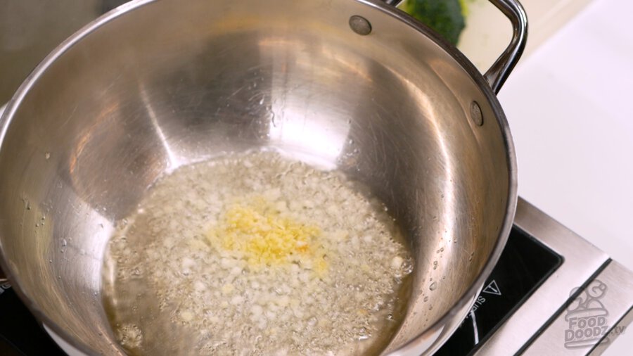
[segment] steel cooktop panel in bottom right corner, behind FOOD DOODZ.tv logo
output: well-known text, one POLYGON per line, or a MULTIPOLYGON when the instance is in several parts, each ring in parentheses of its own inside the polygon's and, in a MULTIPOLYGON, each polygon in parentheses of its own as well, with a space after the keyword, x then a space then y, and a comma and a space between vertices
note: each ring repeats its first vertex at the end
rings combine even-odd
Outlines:
POLYGON ((611 261, 523 355, 600 355, 627 332, 632 308, 633 272, 611 261))

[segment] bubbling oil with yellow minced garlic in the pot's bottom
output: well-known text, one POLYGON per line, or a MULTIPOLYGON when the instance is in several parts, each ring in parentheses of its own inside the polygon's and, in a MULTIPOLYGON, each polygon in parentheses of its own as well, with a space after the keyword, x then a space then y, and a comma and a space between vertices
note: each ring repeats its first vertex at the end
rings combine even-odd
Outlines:
POLYGON ((108 244, 117 341, 131 355, 377 354, 402 322, 412 262, 363 191, 260 151, 162 177, 108 244))

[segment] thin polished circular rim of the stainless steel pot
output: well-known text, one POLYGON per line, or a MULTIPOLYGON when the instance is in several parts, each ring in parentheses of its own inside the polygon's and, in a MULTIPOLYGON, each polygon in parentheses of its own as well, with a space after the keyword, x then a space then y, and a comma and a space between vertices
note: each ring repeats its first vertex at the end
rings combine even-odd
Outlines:
MULTIPOLYGON (((120 15, 124 13, 128 13, 130 11, 134 11, 137 8, 141 8, 148 4, 151 4, 155 1, 160 0, 132 0, 126 4, 123 4, 108 13, 101 15, 95 20, 91 21, 81 29, 77 30, 74 34, 72 34, 68 39, 65 39, 61 44, 59 44, 56 49, 51 51, 44 60, 42 60, 39 65, 28 75, 25 81, 20 84, 20 87, 15 94, 11 98, 8 103, 6 103, 4 113, 0 115, 0 149, 2 146, 2 142, 4 141, 4 137, 8 130, 8 126, 11 123, 11 119, 15 112, 18 110, 20 103, 23 101, 27 93, 33 87, 33 85, 37 82, 39 77, 46 72, 51 64, 53 64, 60 56, 68 51, 72 46, 81 41, 84 37, 86 37, 91 32, 94 32, 99 27, 106 25, 111 20, 118 18, 120 15)), ((423 350, 424 353, 430 353, 437 348, 439 348, 444 341, 454 332, 459 324, 456 324, 452 327, 452 330, 444 330, 444 326, 449 324, 452 319, 459 317, 460 321, 465 316, 461 313, 463 310, 470 310, 473 303, 475 302, 475 297, 480 293, 483 288, 483 284, 485 280, 492 272, 492 269, 497 264, 497 260, 499 260, 499 256, 501 252, 504 250, 506 245, 506 241, 508 240, 514 216, 516 213, 516 204, 518 200, 518 189, 517 189, 517 163, 516 163, 516 152, 514 149, 514 144, 512 141, 512 135, 510 132, 509 124, 506 120, 506 116, 504 115, 503 110, 501 109, 501 104, 497 100, 497 96, 494 94, 492 89, 490 88, 490 84, 485 80, 483 75, 475 68, 473 63, 466 58, 466 56, 459 51, 453 44, 447 42, 444 38, 442 38, 439 34, 430 29, 430 27, 420 23, 418 20, 413 18, 411 15, 404 13, 404 11, 395 8, 395 6, 390 6, 385 4, 381 0, 353 0, 359 3, 365 4, 371 8, 374 8, 377 11, 382 11, 390 15, 395 20, 398 20, 404 25, 408 25, 413 28, 417 32, 420 32, 424 36, 433 40, 435 44, 440 46, 446 53, 449 54, 459 65, 461 68, 465 70, 468 75, 470 75, 471 79, 478 85, 481 89, 482 94, 486 97, 492 111, 494 113, 494 117, 497 120, 497 124, 501 129, 502 138, 504 141, 504 146, 506 148, 506 164, 509 168, 509 191, 507 202, 506 202, 506 215, 504 217, 504 221, 502 222, 499 229, 499 236, 497 236, 497 241, 494 244, 494 248, 492 253, 485 263, 482 271, 480 272, 475 282, 471 284, 468 290, 461 295, 456 304, 454 304, 450 310, 444 314, 435 324, 428 327, 428 329, 421 331, 415 338, 411 339, 400 348, 393 350, 389 355, 419 355, 421 352, 421 348, 426 346, 426 350, 423 350), (468 307, 468 309, 465 309, 468 307), (438 334, 438 336, 433 339, 433 335, 438 334), (431 338, 430 341, 428 339, 431 338)), ((56 333, 63 341, 66 341, 73 348, 76 348, 80 352, 84 352, 86 355, 95 354, 94 350, 89 348, 88 345, 82 343, 81 341, 77 341, 77 339, 72 338, 69 333, 67 333, 64 329, 62 329, 56 322, 53 322, 52 319, 46 316, 44 312, 41 312, 37 305, 35 305, 30 298, 27 297, 25 293, 22 291, 22 287, 20 286, 20 282, 18 279, 13 278, 13 270, 11 266, 9 266, 4 260, 4 248, 0 245, 0 267, 5 272, 6 277, 9 281, 11 281, 11 285, 13 286, 15 293, 18 295, 20 300, 28 307, 30 312, 34 314, 37 320, 42 324, 46 325, 53 333, 56 333)))

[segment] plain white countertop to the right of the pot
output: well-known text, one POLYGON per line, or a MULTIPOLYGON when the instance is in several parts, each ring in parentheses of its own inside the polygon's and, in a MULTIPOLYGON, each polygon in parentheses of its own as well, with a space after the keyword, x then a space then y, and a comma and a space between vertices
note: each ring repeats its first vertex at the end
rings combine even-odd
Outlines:
MULTIPOLYGON (((633 1, 592 1, 520 63, 499 100, 520 196, 633 270, 631 14, 633 1)), ((604 355, 632 350, 629 330, 604 355)))

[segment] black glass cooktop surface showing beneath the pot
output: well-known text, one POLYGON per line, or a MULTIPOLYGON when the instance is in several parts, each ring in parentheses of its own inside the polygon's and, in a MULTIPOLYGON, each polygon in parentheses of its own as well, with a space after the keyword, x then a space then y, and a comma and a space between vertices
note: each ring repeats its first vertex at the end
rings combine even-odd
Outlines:
MULTIPOLYGON (((517 227, 468 317, 437 355, 469 355, 494 333, 563 258, 517 227)), ((21 303, 0 285, 0 355, 65 355, 21 303)))

